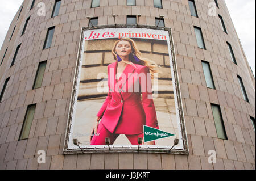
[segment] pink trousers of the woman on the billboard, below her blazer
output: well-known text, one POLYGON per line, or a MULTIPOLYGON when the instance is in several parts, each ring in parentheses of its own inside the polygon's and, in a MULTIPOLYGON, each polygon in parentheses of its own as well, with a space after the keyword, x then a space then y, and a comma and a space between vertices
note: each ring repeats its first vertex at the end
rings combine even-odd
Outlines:
MULTIPOLYGON (((114 144, 114 141, 120 134, 110 133, 108 129, 104 127, 104 125, 100 122, 98 125, 97 135, 94 135, 90 145, 106 145, 105 138, 109 138, 110 145, 114 144)), ((138 138, 143 138, 144 134, 134 134, 134 135, 125 135, 132 145, 138 145, 138 138)))

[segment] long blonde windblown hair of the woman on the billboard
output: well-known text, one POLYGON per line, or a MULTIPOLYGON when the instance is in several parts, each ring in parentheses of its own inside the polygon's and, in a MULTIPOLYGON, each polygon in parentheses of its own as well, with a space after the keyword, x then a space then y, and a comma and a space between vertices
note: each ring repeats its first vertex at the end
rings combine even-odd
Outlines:
POLYGON ((132 40, 132 39, 129 39, 129 38, 123 38, 123 39, 115 41, 114 47, 112 49, 112 54, 114 56, 114 60, 117 60, 117 54, 115 52, 115 49, 117 47, 117 44, 120 41, 128 41, 130 43, 130 45, 131 45, 131 54, 129 55, 129 62, 127 62, 127 61, 123 61, 123 62, 125 62, 126 64, 133 65, 133 66, 135 66, 134 64, 139 64, 139 65, 147 66, 150 69, 151 78, 154 77, 153 73, 158 73, 158 70, 155 70, 155 68, 160 67, 160 66, 158 66, 152 60, 149 60, 147 58, 143 58, 141 52, 137 48, 137 45, 136 45, 135 41, 132 40), (137 56, 137 58, 140 60, 139 62, 134 60, 133 54, 135 56, 137 56))

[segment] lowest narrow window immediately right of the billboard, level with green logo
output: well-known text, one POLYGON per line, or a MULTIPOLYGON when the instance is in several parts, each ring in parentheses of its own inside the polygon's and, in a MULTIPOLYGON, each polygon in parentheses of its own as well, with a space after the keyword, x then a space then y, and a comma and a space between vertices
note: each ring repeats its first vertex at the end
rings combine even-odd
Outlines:
POLYGON ((222 140, 228 140, 226 136, 226 130, 221 115, 220 106, 212 104, 212 115, 218 138, 222 140))

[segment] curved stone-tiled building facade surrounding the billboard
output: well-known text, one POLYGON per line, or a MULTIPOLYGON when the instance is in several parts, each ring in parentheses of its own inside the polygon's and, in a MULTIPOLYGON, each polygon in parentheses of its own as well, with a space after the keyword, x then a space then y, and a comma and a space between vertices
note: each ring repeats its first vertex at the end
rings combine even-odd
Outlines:
POLYGON ((26 0, 0 61, 0 169, 255 169, 255 79, 224 0, 26 0), (115 23, 172 28, 189 155, 63 154, 81 28, 115 23))

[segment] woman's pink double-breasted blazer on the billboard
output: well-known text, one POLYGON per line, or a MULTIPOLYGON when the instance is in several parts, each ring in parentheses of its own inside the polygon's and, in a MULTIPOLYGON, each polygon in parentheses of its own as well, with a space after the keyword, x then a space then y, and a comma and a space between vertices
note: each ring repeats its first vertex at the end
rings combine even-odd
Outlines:
POLYGON ((128 64, 122 74, 125 77, 121 76, 118 81, 114 78, 117 62, 108 66, 109 93, 97 116, 111 133, 141 134, 143 125, 159 129, 154 102, 150 98, 152 85, 150 74, 147 74, 150 71, 147 66, 134 65, 136 68, 128 64), (136 85, 139 91, 134 92, 136 85))

